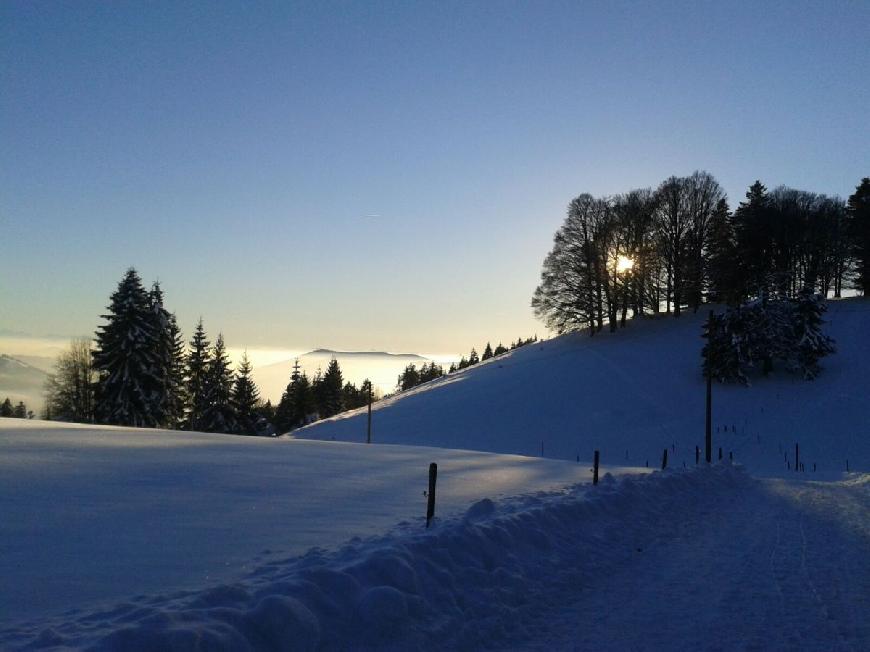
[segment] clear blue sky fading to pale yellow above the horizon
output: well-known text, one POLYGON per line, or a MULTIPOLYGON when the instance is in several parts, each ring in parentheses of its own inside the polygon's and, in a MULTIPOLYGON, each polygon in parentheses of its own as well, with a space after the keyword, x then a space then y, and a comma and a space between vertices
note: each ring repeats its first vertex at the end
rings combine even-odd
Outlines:
POLYGON ((0 330, 126 267, 236 347, 543 332, 568 201, 870 174, 867 2, 4 2, 0 330))

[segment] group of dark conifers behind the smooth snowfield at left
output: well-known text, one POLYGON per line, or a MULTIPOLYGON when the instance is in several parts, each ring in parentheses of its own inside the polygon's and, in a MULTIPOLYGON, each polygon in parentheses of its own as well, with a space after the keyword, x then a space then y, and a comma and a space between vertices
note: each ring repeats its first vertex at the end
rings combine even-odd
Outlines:
POLYGON ((247 353, 233 370, 222 334, 202 319, 185 343, 158 283, 130 268, 93 342, 73 340, 45 385, 47 419, 243 435, 284 432, 375 398, 342 379, 333 359, 309 381, 296 362, 279 404, 262 401, 247 353))

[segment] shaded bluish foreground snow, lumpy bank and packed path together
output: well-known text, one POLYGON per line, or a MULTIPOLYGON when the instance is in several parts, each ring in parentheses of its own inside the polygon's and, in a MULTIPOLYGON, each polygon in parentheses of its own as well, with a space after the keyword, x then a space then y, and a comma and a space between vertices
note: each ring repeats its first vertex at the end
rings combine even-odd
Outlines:
POLYGON ((432 529, 0 631, 11 649, 865 650, 870 476, 725 463, 482 499, 432 529))

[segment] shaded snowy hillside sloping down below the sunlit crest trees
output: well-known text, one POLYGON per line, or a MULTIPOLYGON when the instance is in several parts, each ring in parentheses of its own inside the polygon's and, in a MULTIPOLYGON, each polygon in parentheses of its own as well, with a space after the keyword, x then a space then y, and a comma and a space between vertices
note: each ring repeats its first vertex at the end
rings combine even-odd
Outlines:
MULTIPOLYGON (((564 460, 598 448, 604 461, 640 466, 658 465, 669 447, 671 464, 691 466, 704 441, 704 319, 644 320, 512 351, 377 404, 374 439, 532 456, 543 445, 545 457, 564 460)), ((832 301, 826 319, 838 352, 817 380, 779 372, 751 388, 714 385, 714 445, 753 472, 787 472, 796 442, 817 477, 836 477, 847 459, 870 469, 870 300, 832 301)), ((366 417, 293 434, 363 441, 366 417)))

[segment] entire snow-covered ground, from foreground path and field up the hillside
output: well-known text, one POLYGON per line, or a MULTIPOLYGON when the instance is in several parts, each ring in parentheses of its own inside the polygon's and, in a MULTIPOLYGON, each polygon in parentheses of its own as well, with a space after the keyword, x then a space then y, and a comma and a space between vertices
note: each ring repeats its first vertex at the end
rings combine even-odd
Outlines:
POLYGON ((816 382, 716 388, 712 467, 698 317, 384 401, 373 445, 329 441, 361 415, 279 439, 0 419, 0 649, 870 649, 870 303, 829 319, 816 382), (625 465, 598 487, 593 448, 625 465))

